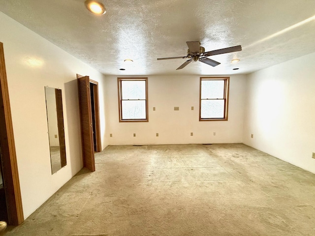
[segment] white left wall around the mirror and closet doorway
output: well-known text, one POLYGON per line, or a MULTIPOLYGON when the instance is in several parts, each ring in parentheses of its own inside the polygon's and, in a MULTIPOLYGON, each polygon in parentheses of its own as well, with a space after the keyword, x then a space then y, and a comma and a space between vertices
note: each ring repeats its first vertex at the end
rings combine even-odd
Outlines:
MULTIPOLYGON (((76 73, 99 82, 105 134, 104 76, 0 12, 13 131, 25 218, 83 166, 76 73), (67 165, 51 174, 44 86, 62 89, 67 165)), ((107 141, 102 136, 102 148, 107 141)))

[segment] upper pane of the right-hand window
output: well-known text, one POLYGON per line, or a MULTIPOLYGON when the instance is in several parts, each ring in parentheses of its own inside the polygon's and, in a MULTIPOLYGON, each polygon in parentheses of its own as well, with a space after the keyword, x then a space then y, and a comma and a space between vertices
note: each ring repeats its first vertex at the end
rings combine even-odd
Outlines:
POLYGON ((223 99, 224 80, 201 81, 201 99, 223 99))

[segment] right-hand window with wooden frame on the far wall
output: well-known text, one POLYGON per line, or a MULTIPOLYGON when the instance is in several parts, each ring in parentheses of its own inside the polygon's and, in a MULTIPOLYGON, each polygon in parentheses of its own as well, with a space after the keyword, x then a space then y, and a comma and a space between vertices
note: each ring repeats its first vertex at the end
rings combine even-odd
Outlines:
POLYGON ((229 77, 200 78, 199 120, 227 120, 229 77))

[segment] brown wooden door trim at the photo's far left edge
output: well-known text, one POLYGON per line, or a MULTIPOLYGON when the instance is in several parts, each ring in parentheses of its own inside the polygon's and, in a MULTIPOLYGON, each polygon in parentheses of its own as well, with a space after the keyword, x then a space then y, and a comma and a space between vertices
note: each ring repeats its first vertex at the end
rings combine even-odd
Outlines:
POLYGON ((3 44, 0 42, 0 144, 9 224, 24 221, 3 44))

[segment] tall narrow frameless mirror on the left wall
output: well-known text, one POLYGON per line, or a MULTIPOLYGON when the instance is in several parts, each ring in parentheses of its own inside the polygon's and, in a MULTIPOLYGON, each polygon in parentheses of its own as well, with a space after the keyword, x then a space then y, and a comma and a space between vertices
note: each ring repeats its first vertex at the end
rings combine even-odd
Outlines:
POLYGON ((66 165, 61 89, 45 87, 51 173, 66 165))

